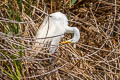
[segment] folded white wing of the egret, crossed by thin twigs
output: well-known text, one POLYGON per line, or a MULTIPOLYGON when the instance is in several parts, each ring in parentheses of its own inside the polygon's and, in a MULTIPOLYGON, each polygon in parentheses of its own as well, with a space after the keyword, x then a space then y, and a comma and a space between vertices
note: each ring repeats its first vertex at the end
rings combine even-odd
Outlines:
POLYGON ((59 45, 59 42, 63 37, 63 35, 61 34, 64 33, 65 33, 65 28, 60 21, 56 21, 51 17, 49 19, 45 18, 45 20, 43 21, 42 25, 40 26, 36 34, 36 42, 38 42, 36 43, 36 45, 37 46, 40 45, 41 47, 44 47, 45 44, 49 44, 47 47, 52 47, 50 48, 50 52, 53 53, 56 49, 56 46, 59 45))

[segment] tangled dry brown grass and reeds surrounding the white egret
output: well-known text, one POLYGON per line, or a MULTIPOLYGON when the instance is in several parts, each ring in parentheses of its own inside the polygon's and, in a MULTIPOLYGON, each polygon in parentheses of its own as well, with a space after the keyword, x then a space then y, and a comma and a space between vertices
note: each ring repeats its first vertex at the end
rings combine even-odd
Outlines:
MULTIPOLYGON (((70 0, 20 1, 0 1, 1 80, 120 79, 119 0, 78 0, 72 7, 70 0), (45 15, 56 11, 80 29, 76 48, 60 45, 56 54, 48 53, 48 47, 32 49, 45 15)), ((69 38, 66 34, 64 39, 69 38)))

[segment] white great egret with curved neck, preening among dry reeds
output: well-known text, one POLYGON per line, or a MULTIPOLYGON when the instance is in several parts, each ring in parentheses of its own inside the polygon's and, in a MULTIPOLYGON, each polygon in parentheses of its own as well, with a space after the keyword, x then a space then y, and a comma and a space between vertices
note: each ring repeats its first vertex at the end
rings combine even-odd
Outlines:
POLYGON ((64 33, 74 33, 74 36, 72 39, 62 43, 76 43, 80 39, 79 29, 77 27, 68 26, 68 19, 65 14, 61 12, 52 13, 44 19, 42 25, 38 29, 36 34, 36 45, 43 47, 48 43, 50 47, 49 52, 54 53, 56 46, 59 45, 61 38, 64 37, 64 33))

